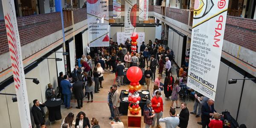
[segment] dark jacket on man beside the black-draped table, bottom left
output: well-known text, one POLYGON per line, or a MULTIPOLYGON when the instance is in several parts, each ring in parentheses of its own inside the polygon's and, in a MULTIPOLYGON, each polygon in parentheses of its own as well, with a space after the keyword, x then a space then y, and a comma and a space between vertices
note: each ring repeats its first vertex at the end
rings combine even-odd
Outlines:
POLYGON ((39 125, 41 123, 45 122, 45 114, 44 114, 44 105, 40 105, 39 109, 38 107, 36 107, 35 105, 33 105, 31 112, 34 118, 34 122, 36 125, 39 125))

